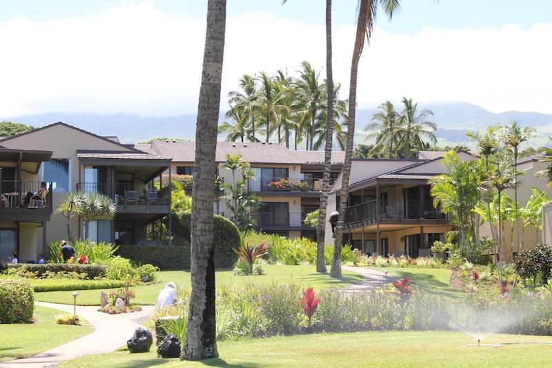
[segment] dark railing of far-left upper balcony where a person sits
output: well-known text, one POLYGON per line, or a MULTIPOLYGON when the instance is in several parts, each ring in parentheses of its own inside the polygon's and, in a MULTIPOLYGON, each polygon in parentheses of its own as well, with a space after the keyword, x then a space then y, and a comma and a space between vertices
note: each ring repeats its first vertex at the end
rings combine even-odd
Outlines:
POLYGON ((0 210, 8 208, 48 209, 52 213, 52 182, 23 182, 2 180, 0 182, 0 210))

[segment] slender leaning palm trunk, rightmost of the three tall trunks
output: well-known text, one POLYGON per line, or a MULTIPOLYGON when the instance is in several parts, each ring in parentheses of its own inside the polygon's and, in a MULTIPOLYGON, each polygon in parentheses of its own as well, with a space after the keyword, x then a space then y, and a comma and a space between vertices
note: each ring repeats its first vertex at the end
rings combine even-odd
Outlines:
POLYGON ((341 277, 341 247, 343 243, 343 224, 349 192, 349 177, 351 177, 351 158, 353 156, 353 139, 355 138, 355 113, 357 110, 357 77, 358 62, 362 55, 364 37, 366 37, 366 17, 368 1, 360 1, 359 17, 357 20, 357 33, 355 48, 351 60, 351 81, 349 84, 349 111, 347 119, 347 143, 345 148, 345 162, 343 166, 341 197, 339 198, 339 217, 335 227, 335 243, 333 244, 333 258, 330 275, 334 278, 341 277))

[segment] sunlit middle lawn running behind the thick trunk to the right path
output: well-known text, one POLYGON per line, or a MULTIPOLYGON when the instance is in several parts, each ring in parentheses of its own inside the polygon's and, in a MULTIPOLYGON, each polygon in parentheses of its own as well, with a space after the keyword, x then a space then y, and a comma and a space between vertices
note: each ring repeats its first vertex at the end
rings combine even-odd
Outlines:
MULTIPOLYGON (((225 286, 239 286, 244 283, 267 284, 277 282, 288 284, 293 281, 302 287, 314 287, 315 289, 327 289, 331 287, 346 287, 362 281, 362 275, 351 271, 343 271, 341 279, 331 278, 328 274, 316 272, 315 266, 275 266, 263 265, 266 275, 262 276, 235 276, 233 271, 217 271, 217 284, 225 286)), ((161 271, 157 273, 159 284, 132 287, 136 292, 136 298, 132 300, 137 304, 155 304, 159 291, 166 282, 172 281, 177 287, 190 287, 190 273, 188 271, 161 271)), ((48 291, 34 293, 34 300, 41 302, 54 302, 72 304, 73 297, 70 291, 48 291)), ((99 305, 98 290, 79 291, 77 297, 79 305, 99 305)))

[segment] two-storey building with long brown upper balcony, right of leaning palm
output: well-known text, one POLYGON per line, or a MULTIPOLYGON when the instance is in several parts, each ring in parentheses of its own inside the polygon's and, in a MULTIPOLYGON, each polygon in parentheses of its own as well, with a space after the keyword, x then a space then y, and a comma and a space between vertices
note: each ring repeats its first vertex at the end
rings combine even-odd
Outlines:
MULTIPOLYGON (((452 228, 435 209, 428 181, 444 173, 444 152, 422 152, 419 159, 353 159, 344 243, 368 254, 429 255, 435 240, 452 228)), ((471 159, 460 151, 460 159, 471 159)), ((328 219, 337 210, 341 176, 328 197, 328 219)), ((326 226, 326 243, 333 242, 326 226)))

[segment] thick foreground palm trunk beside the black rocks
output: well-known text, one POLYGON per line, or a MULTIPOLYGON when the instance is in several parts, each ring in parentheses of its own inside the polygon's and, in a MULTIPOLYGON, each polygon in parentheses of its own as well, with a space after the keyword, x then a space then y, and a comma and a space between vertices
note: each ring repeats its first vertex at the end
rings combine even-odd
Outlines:
POLYGON ((195 133, 195 172, 191 218, 190 273, 192 293, 186 341, 180 358, 199 360, 218 356, 215 311, 215 248, 213 191, 217 173, 217 120, 219 117, 226 0, 209 0, 201 89, 195 133))

